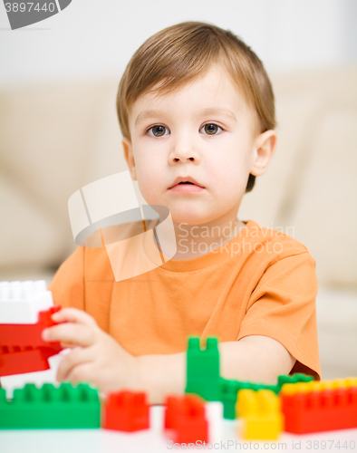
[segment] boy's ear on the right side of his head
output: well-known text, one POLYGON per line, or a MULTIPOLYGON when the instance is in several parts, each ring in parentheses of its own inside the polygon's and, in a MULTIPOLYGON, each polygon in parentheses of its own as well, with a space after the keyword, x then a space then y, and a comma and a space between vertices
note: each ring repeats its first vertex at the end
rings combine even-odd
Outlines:
POLYGON ((256 138, 256 145, 253 153, 250 173, 254 176, 261 176, 268 168, 276 149, 275 130, 265 130, 256 138))

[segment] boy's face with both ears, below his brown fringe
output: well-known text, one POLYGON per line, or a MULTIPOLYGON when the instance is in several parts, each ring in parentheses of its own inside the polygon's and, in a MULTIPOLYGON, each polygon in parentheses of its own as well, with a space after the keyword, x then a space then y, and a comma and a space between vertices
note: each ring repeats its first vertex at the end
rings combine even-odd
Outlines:
POLYGON ((218 66, 177 92, 141 96, 129 126, 131 178, 149 205, 169 207, 175 223, 236 218, 249 173, 262 174, 275 150, 275 132, 259 134, 255 111, 218 66), (172 188, 179 177, 201 188, 172 188))

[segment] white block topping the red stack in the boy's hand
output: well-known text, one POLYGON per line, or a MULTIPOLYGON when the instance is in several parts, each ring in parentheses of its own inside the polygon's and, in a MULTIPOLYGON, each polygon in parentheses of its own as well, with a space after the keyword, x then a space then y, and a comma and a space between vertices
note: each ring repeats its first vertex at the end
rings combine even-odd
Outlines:
POLYGON ((53 306, 44 280, 0 282, 0 324, 34 324, 38 313, 53 306))

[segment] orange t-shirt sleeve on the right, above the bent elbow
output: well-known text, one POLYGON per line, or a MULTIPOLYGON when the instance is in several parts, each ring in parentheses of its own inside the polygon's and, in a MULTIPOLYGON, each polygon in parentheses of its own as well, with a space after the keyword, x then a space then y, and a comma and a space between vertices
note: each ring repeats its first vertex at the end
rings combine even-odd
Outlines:
POLYGON ((315 261, 308 252, 279 259, 256 285, 237 340, 248 335, 274 338, 296 359, 291 372, 320 379, 316 294, 315 261))

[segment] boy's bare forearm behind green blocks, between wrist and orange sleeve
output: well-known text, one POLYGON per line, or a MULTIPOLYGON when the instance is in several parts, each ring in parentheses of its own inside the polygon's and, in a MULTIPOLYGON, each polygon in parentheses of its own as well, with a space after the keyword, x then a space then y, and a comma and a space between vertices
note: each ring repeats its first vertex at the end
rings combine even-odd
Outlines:
MULTIPOLYGON (((288 374, 294 357, 273 338, 250 335, 238 342, 222 342, 220 374, 226 379, 275 384, 280 374, 288 374)), ((151 403, 162 403, 169 393, 183 393, 186 383, 186 352, 142 355, 140 382, 151 403)))

